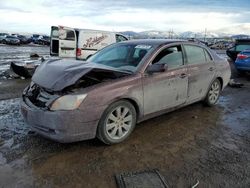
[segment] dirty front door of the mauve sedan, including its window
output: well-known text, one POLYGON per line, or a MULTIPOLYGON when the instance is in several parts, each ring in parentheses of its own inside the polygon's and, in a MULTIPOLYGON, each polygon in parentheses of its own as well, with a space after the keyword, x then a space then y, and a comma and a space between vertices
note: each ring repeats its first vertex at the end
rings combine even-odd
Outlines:
MULTIPOLYGON (((167 71, 143 76, 144 115, 186 102, 188 77, 181 45, 162 49, 150 64, 166 64, 167 71)), ((150 65, 149 65, 150 66, 150 65)))

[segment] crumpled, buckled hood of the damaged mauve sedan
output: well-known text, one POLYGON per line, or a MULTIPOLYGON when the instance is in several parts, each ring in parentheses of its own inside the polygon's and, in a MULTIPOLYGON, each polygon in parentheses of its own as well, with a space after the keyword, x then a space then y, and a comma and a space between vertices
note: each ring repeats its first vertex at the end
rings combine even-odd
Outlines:
POLYGON ((93 69, 117 71, 100 64, 57 59, 42 63, 32 76, 32 81, 43 88, 61 91, 75 84, 77 80, 93 69))

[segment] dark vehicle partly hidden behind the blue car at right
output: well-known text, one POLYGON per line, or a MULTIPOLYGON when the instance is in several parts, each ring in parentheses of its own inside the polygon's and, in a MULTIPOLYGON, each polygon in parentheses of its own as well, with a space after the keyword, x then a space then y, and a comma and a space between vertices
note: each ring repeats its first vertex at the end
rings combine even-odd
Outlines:
POLYGON ((227 55, 235 61, 238 53, 246 49, 250 49, 250 39, 238 39, 235 45, 227 50, 227 55))

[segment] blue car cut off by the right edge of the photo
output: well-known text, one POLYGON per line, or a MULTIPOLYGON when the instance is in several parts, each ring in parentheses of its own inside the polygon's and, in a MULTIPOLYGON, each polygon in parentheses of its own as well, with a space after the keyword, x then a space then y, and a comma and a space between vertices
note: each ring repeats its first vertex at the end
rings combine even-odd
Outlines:
POLYGON ((240 73, 250 71, 250 49, 244 50, 237 55, 235 67, 240 73))

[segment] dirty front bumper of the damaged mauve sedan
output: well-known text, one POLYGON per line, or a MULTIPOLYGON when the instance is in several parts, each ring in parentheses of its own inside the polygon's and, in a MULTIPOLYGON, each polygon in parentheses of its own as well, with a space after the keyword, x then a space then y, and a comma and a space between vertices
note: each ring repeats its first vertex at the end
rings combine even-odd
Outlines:
POLYGON ((70 143, 96 136, 99 120, 80 110, 53 112, 33 108, 22 100, 21 113, 33 131, 57 142, 70 143))

